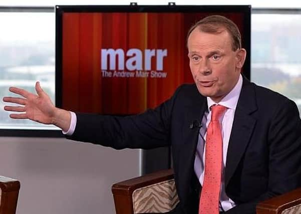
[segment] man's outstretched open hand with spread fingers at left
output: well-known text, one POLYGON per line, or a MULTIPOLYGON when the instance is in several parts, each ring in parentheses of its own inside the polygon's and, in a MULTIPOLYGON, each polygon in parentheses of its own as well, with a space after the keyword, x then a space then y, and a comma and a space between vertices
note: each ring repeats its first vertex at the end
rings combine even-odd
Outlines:
POLYGON ((54 124, 56 107, 51 102, 48 94, 41 88, 40 83, 36 83, 37 94, 30 93, 24 89, 10 87, 11 92, 21 95, 19 97, 4 97, 3 101, 19 104, 20 106, 5 106, 6 111, 19 113, 10 114, 14 119, 30 119, 44 124, 54 124))

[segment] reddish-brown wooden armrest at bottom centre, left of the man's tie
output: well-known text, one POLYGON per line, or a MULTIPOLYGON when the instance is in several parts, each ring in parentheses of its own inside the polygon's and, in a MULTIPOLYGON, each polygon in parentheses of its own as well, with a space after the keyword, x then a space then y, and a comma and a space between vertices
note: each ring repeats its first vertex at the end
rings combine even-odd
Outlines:
MULTIPOLYGON (((173 169, 162 170, 113 184, 116 214, 132 214, 135 189, 173 179, 173 169)), ((1 214, 1 213, 0 213, 1 214)))

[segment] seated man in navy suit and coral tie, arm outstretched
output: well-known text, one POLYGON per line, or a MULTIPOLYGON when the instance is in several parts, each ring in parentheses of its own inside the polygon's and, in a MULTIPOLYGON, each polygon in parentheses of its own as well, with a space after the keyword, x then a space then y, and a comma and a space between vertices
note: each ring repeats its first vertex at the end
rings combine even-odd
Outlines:
POLYGON ((301 121, 286 97, 240 74, 246 51, 236 25, 221 16, 188 33, 195 84, 180 86, 154 110, 129 117, 70 113, 38 95, 4 101, 12 118, 54 124, 67 138, 116 149, 170 145, 180 202, 170 213, 255 213, 258 201, 301 184, 301 121))

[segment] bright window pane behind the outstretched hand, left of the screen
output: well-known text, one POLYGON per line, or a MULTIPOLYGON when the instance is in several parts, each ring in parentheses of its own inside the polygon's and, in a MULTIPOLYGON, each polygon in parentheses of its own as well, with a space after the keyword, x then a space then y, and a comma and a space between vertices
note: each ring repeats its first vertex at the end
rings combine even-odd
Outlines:
MULTIPOLYGON (((36 81, 55 101, 55 14, 0 13, 0 96, 15 96, 10 86, 35 93, 36 81)), ((55 129, 30 120, 15 120, 0 103, 0 128, 55 129)))

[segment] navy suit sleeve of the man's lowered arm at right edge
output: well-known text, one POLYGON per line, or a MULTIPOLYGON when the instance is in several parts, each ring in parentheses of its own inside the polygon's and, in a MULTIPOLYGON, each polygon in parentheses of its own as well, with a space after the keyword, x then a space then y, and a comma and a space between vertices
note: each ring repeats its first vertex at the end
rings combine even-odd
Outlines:
POLYGON ((248 203, 228 210, 227 214, 256 213, 259 201, 301 186, 301 120, 294 102, 287 100, 277 108, 271 120, 269 144, 268 189, 248 203))

